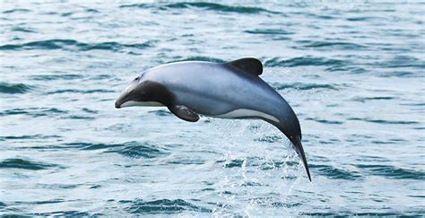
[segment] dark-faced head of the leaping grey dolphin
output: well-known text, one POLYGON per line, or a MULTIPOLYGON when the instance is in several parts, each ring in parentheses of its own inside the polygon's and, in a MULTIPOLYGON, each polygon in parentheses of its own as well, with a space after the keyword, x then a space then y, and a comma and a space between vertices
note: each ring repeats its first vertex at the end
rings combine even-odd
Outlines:
POLYGON ((168 105, 169 101, 169 92, 163 85, 145 80, 142 75, 127 84, 115 101, 115 107, 119 109, 132 106, 164 106, 168 105))

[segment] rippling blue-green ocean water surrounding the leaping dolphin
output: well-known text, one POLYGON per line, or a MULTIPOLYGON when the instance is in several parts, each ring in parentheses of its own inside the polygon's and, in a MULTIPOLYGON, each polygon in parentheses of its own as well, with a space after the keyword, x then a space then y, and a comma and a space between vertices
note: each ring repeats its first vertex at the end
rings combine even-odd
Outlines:
POLYGON ((0 5, 0 214, 425 214, 425 3, 0 5), (260 120, 115 109, 182 60, 257 57, 313 182, 260 120))

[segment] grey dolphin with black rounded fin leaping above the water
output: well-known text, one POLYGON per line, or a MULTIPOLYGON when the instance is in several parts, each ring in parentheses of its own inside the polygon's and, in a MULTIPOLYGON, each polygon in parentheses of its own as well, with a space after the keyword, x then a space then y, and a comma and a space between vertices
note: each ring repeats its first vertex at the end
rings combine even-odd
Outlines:
POLYGON ((228 63, 182 61, 159 65, 130 82, 115 107, 164 106, 189 122, 196 122, 199 115, 263 119, 288 137, 311 182, 299 119, 288 102, 259 77, 262 73, 263 65, 252 57, 228 63))

